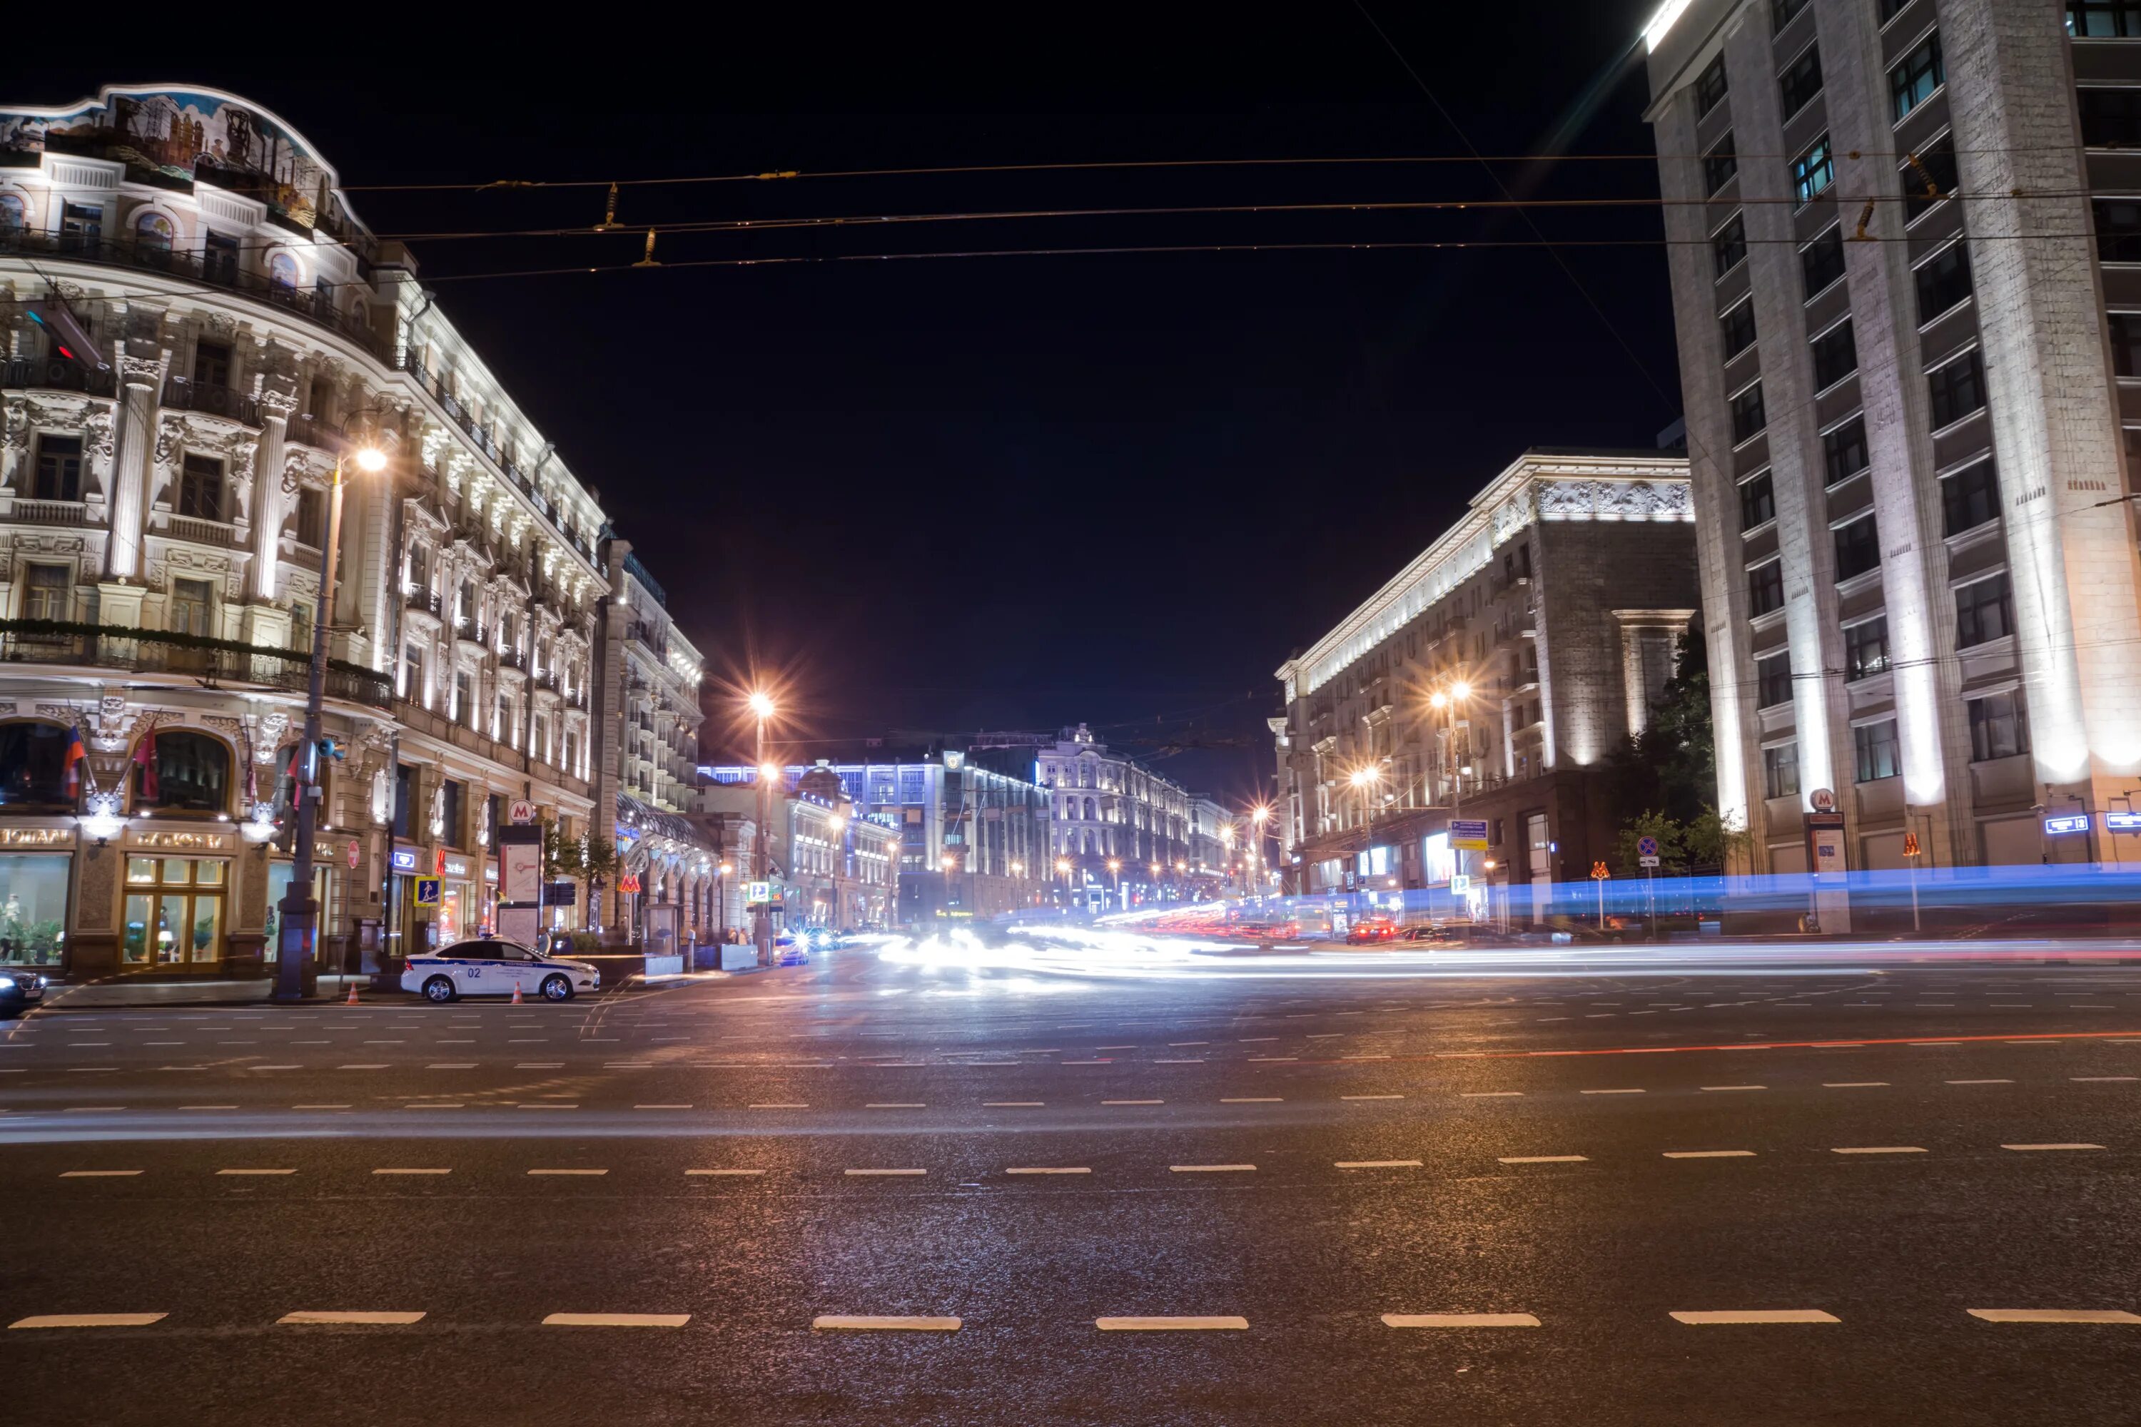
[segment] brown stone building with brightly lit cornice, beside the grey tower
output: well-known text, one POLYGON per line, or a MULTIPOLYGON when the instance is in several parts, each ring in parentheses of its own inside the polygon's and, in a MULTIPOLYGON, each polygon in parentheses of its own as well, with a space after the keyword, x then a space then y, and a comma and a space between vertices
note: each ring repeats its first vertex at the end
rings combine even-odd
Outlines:
POLYGON ((1464 875, 1469 907, 1437 911, 1542 920, 1554 884, 1589 886, 1634 811, 1606 807, 1601 764, 1646 725, 1696 614, 1691 520, 1676 456, 1524 451, 1282 663, 1287 890, 1432 890, 1464 875), (1458 809, 1488 824, 1462 869, 1447 839, 1458 809))

